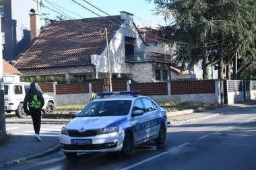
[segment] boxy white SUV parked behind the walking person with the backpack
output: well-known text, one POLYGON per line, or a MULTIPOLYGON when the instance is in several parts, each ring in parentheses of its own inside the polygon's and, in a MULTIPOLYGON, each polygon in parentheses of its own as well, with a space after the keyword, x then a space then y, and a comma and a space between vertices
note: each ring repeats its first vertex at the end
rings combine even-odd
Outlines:
MULTIPOLYGON (((24 118, 26 116, 26 113, 24 112, 23 101, 26 92, 30 89, 30 83, 4 83, 4 87, 5 112, 10 113, 12 111, 15 111, 16 116, 18 116, 19 118, 24 118)), ((41 91, 37 83, 36 89, 38 89, 38 91, 41 91)), ((53 100, 53 97, 44 93, 42 93, 42 96, 44 97, 44 107, 42 108, 42 112, 44 114, 54 114, 55 102, 53 100)))

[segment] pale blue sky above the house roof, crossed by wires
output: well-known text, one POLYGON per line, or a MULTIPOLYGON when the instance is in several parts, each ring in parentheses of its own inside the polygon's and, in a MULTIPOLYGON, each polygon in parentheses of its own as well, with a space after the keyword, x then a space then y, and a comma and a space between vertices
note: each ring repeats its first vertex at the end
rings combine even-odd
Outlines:
MULTIPOLYGON (((50 13, 47 15, 49 19, 55 19, 57 15, 60 15, 59 13, 62 13, 70 19, 79 19, 99 17, 99 15, 107 16, 106 13, 109 15, 120 15, 120 11, 126 11, 133 14, 133 22, 136 26, 151 26, 152 28, 155 28, 158 24, 162 26, 167 25, 166 22, 164 22, 164 18, 162 16, 154 15, 155 11, 153 10, 155 10, 156 5, 153 2, 149 3, 146 0, 42 0, 42 3, 46 7, 42 7, 40 9, 40 13, 50 13), (74 1, 90 9, 91 11, 85 9, 74 1), (102 11, 92 7, 92 5, 89 5, 85 1, 88 1, 105 13, 102 13, 102 11)), ((41 22, 41 25, 44 25, 44 21, 41 22)))

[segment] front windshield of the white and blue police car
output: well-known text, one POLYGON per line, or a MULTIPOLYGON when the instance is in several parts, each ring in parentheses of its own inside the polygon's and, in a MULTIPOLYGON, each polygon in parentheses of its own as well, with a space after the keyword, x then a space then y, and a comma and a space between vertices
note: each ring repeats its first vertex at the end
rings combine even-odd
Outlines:
POLYGON ((77 117, 124 116, 130 108, 131 100, 92 101, 77 117))

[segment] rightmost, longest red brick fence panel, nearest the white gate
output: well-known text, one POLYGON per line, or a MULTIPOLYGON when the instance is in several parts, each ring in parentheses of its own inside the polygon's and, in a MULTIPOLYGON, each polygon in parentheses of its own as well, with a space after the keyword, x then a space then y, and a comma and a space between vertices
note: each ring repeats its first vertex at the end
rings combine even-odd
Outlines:
POLYGON ((170 83, 172 95, 215 93, 215 80, 174 81, 170 83))

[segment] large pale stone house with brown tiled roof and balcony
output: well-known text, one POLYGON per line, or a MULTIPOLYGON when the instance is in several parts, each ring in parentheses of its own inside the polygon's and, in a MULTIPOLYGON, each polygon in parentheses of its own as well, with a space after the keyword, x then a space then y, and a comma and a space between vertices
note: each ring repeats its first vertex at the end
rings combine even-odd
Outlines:
MULTIPOLYGON (((34 15, 30 14, 30 19, 36 19, 34 15)), ((111 75, 154 82, 168 81, 170 77, 170 58, 149 54, 133 15, 125 11, 121 15, 53 22, 18 56, 14 67, 29 79, 102 79, 111 75), (166 71, 166 79, 156 75, 159 70, 166 71)))

